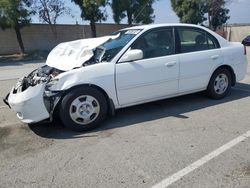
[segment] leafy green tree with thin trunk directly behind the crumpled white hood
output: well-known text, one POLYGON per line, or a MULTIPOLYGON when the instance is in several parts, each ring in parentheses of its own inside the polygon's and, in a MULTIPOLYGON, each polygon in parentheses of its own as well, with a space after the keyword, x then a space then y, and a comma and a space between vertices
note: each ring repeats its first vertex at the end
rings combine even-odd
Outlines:
POLYGON ((77 4, 82 13, 81 17, 84 20, 90 21, 92 37, 96 37, 96 22, 105 21, 107 14, 104 10, 108 4, 108 0, 72 0, 77 4))

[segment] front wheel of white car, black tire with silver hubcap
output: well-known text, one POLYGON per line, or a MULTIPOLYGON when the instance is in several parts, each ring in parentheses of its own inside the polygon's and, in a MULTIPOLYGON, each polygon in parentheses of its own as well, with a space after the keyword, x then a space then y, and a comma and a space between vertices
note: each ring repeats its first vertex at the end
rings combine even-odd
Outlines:
POLYGON ((96 128, 106 118, 108 105, 101 91, 92 87, 77 88, 67 93, 60 104, 59 116, 73 131, 96 128))

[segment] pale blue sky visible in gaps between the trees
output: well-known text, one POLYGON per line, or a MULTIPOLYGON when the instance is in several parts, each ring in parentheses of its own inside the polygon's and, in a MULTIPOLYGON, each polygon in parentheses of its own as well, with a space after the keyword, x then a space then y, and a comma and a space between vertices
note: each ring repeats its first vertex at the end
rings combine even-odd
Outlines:
MULTIPOLYGON (((71 3, 70 0, 66 0, 66 6, 71 9, 71 16, 62 16, 59 20, 59 24, 75 24, 78 22, 79 24, 88 24, 87 21, 82 21, 80 18, 81 11, 74 4, 71 3)), ((231 3, 227 4, 227 8, 230 10, 230 19, 227 23, 250 23, 250 0, 231 0, 231 3)), ((112 18, 112 10, 110 7, 107 7, 108 18, 104 23, 114 23, 112 18)), ((170 0, 158 0, 154 4, 154 14, 155 14, 155 22, 154 23, 175 23, 179 22, 179 18, 176 16, 174 11, 172 10, 170 0)), ((32 18, 34 23, 38 23, 39 19, 34 16, 32 18)), ((126 19, 122 21, 122 23, 126 23, 126 19)))

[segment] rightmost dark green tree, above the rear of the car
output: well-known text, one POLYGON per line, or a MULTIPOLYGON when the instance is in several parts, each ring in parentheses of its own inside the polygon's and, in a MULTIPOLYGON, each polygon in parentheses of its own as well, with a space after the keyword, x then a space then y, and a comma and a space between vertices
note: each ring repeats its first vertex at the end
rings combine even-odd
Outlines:
POLYGON ((205 12, 208 15, 209 28, 216 30, 227 22, 229 9, 226 8, 226 0, 203 0, 205 12))

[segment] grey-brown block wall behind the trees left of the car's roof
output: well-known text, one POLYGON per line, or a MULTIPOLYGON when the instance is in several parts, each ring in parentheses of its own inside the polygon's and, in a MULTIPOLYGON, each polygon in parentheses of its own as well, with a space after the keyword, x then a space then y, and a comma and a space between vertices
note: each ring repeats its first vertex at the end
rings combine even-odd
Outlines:
MULTIPOLYGON (((97 35, 104 36, 116 30, 128 27, 126 24, 97 24, 97 35)), ((26 51, 51 50, 57 44, 66 41, 91 37, 88 25, 56 25, 56 34, 49 25, 32 24, 21 30, 26 51)), ((0 54, 18 53, 19 45, 12 29, 0 29, 0 54)))

